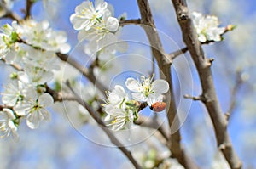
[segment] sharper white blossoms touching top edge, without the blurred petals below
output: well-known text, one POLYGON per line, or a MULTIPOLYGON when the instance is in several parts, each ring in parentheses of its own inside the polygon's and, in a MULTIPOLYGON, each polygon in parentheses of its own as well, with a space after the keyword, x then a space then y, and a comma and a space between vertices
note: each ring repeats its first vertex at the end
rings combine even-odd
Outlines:
POLYGON ((114 33, 118 31, 119 20, 113 17, 108 3, 96 0, 95 4, 96 8, 89 1, 81 3, 75 9, 75 14, 70 16, 70 21, 73 28, 79 30, 79 41, 85 39, 94 42, 96 48, 101 48, 101 43, 105 43, 102 41, 116 42, 114 33))

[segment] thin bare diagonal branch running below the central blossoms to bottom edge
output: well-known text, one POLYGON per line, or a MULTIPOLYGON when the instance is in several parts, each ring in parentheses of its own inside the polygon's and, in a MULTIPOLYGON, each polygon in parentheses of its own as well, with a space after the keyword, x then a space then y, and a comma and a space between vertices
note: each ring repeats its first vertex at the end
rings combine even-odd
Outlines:
MULTIPOLYGON (((108 138, 111 140, 111 142, 113 144, 115 144, 125 155, 126 157, 131 161, 131 163, 133 164, 133 166, 135 166, 137 169, 142 169, 142 166, 140 166, 137 161, 133 158, 133 156, 131 155, 131 152, 125 148, 125 145, 123 145, 121 142, 119 142, 118 138, 116 138, 113 133, 108 129, 108 127, 106 127, 105 123, 102 121, 101 116, 96 113, 89 104, 87 104, 83 99, 81 99, 79 97, 79 95, 77 93, 75 93, 73 91, 73 88, 70 86, 69 82, 67 82, 67 87, 69 87, 69 89, 72 91, 73 96, 74 96, 74 100, 81 104, 82 106, 84 106, 84 108, 86 110, 88 110, 89 114, 91 115, 91 117, 97 122, 97 124, 99 125, 99 127, 102 128, 103 132, 105 132, 108 135, 108 138)), ((64 99, 64 98, 62 98, 64 99)))

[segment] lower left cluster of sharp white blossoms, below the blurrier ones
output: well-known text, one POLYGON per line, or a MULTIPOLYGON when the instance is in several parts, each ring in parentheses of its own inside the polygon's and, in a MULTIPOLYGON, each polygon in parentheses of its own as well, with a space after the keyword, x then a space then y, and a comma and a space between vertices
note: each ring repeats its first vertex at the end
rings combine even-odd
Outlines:
POLYGON ((53 104, 49 93, 44 93, 44 86, 23 82, 16 74, 9 79, 9 83, 2 93, 2 102, 9 109, 1 111, 0 126, 3 136, 12 133, 17 138, 17 127, 22 119, 26 119, 28 127, 37 128, 42 120, 49 120, 46 107, 53 104))

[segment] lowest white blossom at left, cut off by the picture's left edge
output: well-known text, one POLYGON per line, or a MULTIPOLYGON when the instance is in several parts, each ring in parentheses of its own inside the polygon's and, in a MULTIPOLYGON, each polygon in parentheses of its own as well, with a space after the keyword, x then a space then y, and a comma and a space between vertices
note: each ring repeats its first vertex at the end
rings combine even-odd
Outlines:
POLYGON ((1 138, 7 138, 11 134, 15 140, 19 138, 14 120, 15 114, 12 110, 3 108, 0 111, 0 134, 1 138))

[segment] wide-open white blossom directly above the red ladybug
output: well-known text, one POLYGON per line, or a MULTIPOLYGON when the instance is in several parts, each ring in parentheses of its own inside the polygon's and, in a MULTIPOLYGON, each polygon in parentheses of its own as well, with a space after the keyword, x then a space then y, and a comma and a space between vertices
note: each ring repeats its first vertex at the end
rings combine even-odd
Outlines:
POLYGON ((169 85, 165 80, 156 80, 141 76, 141 81, 129 77, 125 82, 126 87, 131 90, 131 96, 137 101, 147 102, 151 105, 163 99, 162 94, 168 92, 169 85))

